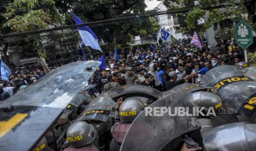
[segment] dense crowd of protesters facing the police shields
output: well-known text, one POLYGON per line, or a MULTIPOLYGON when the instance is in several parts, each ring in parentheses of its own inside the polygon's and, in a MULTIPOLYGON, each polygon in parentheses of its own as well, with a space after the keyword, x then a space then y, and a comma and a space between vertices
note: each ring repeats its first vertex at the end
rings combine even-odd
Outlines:
MULTIPOLYGON (((217 40, 217 49, 214 51, 210 51, 206 42, 199 49, 186 39, 179 44, 159 42, 149 48, 138 47, 135 51, 122 49, 118 61, 115 61, 113 53, 105 56, 106 68, 99 68, 90 79, 96 88, 94 91, 97 91, 92 94, 125 84, 141 84, 160 91, 170 90, 182 83, 200 84, 201 78, 211 68, 235 65, 243 57, 243 50, 235 42, 222 39, 217 40)), ((55 65, 50 69, 57 67, 55 65)), ((45 74, 41 67, 16 68, 9 82, 0 81, 0 101, 25 89, 45 74)))

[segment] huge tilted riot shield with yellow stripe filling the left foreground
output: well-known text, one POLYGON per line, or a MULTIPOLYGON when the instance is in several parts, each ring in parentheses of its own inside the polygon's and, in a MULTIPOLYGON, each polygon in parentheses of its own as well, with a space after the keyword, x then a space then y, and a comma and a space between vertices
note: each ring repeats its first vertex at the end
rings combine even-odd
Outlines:
POLYGON ((0 150, 30 150, 100 65, 82 61, 59 67, 0 107, 0 150))

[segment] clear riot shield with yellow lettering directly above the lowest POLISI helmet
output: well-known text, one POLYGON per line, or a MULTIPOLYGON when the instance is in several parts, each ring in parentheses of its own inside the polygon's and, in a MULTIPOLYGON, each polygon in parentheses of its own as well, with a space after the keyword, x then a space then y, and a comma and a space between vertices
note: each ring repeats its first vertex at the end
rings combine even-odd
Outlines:
POLYGON ((111 97, 96 97, 75 120, 107 121, 108 117, 115 117, 116 102, 111 97))

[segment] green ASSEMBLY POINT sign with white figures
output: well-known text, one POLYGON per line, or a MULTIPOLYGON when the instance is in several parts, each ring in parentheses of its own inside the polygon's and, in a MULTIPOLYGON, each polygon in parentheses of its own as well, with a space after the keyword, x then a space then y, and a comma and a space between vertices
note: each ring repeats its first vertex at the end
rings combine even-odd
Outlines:
POLYGON ((240 45, 243 49, 246 49, 253 43, 253 33, 252 27, 246 24, 244 21, 240 21, 236 28, 236 43, 240 45))

